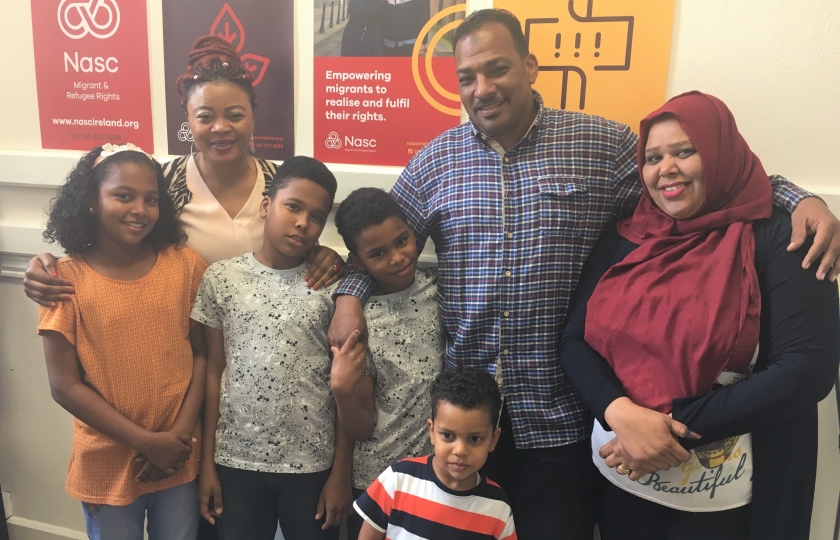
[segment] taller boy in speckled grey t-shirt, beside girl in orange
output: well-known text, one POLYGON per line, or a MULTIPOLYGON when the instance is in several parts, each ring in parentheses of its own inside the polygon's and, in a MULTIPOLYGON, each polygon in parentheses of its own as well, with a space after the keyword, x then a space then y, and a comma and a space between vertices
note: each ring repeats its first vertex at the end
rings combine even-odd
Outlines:
POLYGON ((334 454, 333 303, 304 278, 335 190, 323 163, 284 162, 260 207, 262 248, 211 265, 199 288, 192 318, 208 343, 199 500, 223 538, 271 540, 278 521, 286 538, 338 538, 315 519, 334 454))

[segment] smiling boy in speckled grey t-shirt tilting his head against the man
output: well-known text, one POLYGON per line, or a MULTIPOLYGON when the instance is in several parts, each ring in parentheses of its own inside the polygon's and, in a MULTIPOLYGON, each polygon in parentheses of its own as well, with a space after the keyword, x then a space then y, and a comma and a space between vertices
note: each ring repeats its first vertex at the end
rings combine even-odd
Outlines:
MULTIPOLYGON (((339 416, 351 434, 370 432, 364 394, 369 400, 373 393, 373 432, 356 443, 353 456, 358 497, 391 463, 431 452, 429 387, 441 370, 444 338, 437 269, 417 269, 417 242, 396 201, 381 189, 358 189, 341 203, 335 223, 353 266, 376 280, 365 304, 367 371, 373 364, 375 373, 363 374, 361 365, 341 369, 334 361, 331 381, 339 416)), ((359 528, 361 519, 351 514, 351 540, 359 528)))

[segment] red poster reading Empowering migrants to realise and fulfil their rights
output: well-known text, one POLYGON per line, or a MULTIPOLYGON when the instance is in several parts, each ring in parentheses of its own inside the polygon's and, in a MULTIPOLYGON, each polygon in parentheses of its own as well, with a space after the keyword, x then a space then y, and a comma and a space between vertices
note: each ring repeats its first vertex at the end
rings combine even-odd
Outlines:
POLYGON ((464 0, 315 2, 315 157, 404 166, 460 123, 464 0))

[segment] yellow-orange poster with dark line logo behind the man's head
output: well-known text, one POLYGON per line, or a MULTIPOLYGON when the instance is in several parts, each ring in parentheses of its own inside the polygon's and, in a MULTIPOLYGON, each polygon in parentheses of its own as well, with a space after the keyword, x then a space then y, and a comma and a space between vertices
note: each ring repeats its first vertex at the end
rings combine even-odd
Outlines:
POLYGON ((522 23, 548 107, 627 124, 665 101, 674 0, 495 0, 522 23))

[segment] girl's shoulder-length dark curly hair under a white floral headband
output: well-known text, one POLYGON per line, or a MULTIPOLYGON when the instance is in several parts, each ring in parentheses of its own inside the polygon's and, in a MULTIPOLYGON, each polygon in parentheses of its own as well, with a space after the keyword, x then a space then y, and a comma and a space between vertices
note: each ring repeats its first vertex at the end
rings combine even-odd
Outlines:
POLYGON ((44 240, 58 243, 68 255, 80 253, 93 244, 99 223, 90 208, 99 198, 100 184, 118 165, 136 163, 152 169, 160 193, 158 220, 143 241, 151 244, 155 251, 186 242, 187 235, 167 193, 168 186, 160 164, 141 152, 118 152, 94 167, 101 153, 102 147, 96 147, 85 154, 68 173, 64 185, 58 188, 58 195, 50 202, 44 240))

